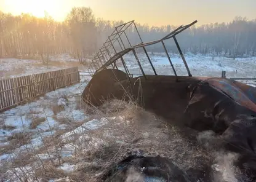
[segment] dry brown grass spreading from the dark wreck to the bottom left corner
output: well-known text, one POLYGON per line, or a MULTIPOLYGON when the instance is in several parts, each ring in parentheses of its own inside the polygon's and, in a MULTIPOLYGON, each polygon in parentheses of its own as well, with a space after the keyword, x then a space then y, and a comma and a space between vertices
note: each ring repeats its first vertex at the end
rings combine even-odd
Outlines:
MULTIPOLYGON (((77 101, 80 101, 79 99, 77 101)), ((62 111, 62 108, 53 108, 55 114, 62 111)), ((112 100, 106 101, 100 108, 89 108, 92 118, 108 118, 108 123, 97 130, 86 132, 73 132, 71 136, 63 135, 70 132, 83 123, 73 123, 62 119, 58 122, 68 124, 66 130, 58 131, 53 136, 44 138, 44 146, 40 149, 31 149, 26 155, 21 155, 9 165, 12 172, 17 172, 17 168, 25 165, 33 166, 33 172, 20 172, 20 179, 33 179, 32 181, 49 181, 64 178, 70 181, 101 181, 102 178, 124 157, 137 149, 148 155, 158 155, 175 159, 179 167, 184 170, 198 167, 200 160, 210 160, 206 152, 191 144, 180 135, 180 130, 170 127, 162 119, 154 114, 146 112, 140 108, 136 102, 112 100), (122 116, 115 117, 114 116, 122 116), (60 151, 66 144, 74 148, 73 156, 62 157, 60 151), (49 156, 48 160, 38 160, 39 154, 49 156), (52 157, 52 155, 54 157, 52 157), (34 162, 40 165, 35 165, 34 162), (67 162, 74 164, 74 171, 65 172, 58 169, 58 166, 67 162)), ((55 117, 57 119, 57 117, 55 117)), ((40 124, 43 119, 34 121, 33 127, 40 124)), ((25 136, 20 136, 27 140, 25 136)), ((6 172, 2 170, 2 173, 6 172)), ((29 180, 28 180, 29 181, 29 180)))

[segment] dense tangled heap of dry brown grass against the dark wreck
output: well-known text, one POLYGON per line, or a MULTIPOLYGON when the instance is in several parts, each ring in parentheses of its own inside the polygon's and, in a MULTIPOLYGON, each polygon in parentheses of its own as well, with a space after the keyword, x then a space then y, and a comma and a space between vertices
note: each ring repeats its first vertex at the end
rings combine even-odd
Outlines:
MULTIPOLYGON (((109 120, 107 125, 97 131, 86 133, 87 137, 98 141, 100 145, 94 146, 93 143, 87 143, 88 145, 92 144, 92 146, 86 152, 81 150, 77 154, 78 159, 83 159, 93 166, 88 167, 86 165, 86 168, 79 168, 80 172, 87 174, 87 180, 94 181, 95 175, 100 180, 108 170, 134 149, 140 149, 149 155, 161 154, 163 157, 175 159, 185 170, 196 167, 201 159, 210 160, 206 151, 183 140, 178 129, 169 128, 154 114, 144 111, 134 103, 124 103, 117 100, 106 103, 101 110, 97 111, 97 116, 110 117, 113 111, 114 115, 124 116, 124 119, 121 121, 119 119, 109 120), (193 157, 197 159, 191 160, 194 159, 193 157), (184 161, 186 162, 184 163, 184 161), (96 168, 95 162, 97 163, 96 168)), ((78 172, 76 174, 78 175, 78 172)), ((71 178, 74 181, 79 181, 78 178, 71 178)))

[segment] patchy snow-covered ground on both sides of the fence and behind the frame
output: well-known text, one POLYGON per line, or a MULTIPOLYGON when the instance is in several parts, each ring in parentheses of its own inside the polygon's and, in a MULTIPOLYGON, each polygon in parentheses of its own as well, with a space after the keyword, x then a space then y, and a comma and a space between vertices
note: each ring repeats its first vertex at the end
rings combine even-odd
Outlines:
MULTIPOLYGON (((142 74, 133 55, 126 55, 124 58, 130 73, 142 74)), ((139 53, 138 58, 146 74, 153 74, 146 56, 139 53)), ((173 75, 166 55, 155 53, 150 54, 150 58, 158 74, 173 75)), ((180 56, 170 54, 170 58, 177 74, 186 76, 186 69, 180 56)), ((255 57, 232 60, 186 54, 185 58, 193 76, 220 77, 222 71, 226 71, 227 77, 256 77, 255 57)), ((38 60, 0 59, 0 76, 22 76, 71 66, 79 66, 80 71, 87 71, 79 65, 78 60, 69 55, 51 57, 51 60, 52 63, 47 68, 38 60)), ((95 148, 104 143, 104 141, 94 140, 89 135, 81 134, 97 130, 113 120, 130 122, 124 117, 92 118, 84 113, 80 105, 79 93, 84 90, 89 80, 90 76, 81 76, 79 84, 46 93, 39 100, 0 113, 0 179, 25 181, 24 174, 27 176, 34 174, 44 161, 49 160, 53 160, 58 170, 72 172, 79 168, 79 165, 68 162, 68 159, 76 156, 75 154, 79 151, 86 152, 88 143, 90 147, 95 148), (48 145, 48 142, 53 141, 56 142, 55 146, 48 145), (17 160, 22 160, 22 164, 16 164, 17 160)), ((111 133, 106 132, 104 135, 110 137, 111 133)), ((145 136, 147 137, 148 133, 145 133, 145 136)), ((122 138, 118 142, 122 143, 122 138)), ((28 177, 27 180, 34 179, 28 177)), ((52 178, 49 181, 58 180, 52 178)))

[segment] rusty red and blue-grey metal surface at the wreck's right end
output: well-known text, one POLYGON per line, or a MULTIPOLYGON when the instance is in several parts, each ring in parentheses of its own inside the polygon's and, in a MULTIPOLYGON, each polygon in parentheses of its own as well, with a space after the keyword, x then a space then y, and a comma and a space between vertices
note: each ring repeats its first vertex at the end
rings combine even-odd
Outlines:
POLYGON ((231 79, 212 78, 206 82, 222 90, 240 105, 256 112, 256 88, 231 79))

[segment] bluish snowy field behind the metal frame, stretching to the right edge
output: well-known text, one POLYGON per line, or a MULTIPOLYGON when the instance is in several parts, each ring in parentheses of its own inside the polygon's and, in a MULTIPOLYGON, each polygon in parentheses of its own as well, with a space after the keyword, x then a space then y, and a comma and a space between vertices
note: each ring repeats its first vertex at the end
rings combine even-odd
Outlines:
MULTIPOLYGON (((142 63, 142 68, 146 74, 153 74, 153 69, 148 62, 145 53, 138 53, 138 58, 142 63)), ((150 54, 151 61, 159 75, 174 75, 169 60, 164 53, 150 54)), ((187 76, 185 65, 180 55, 170 53, 170 59, 174 65, 177 75, 187 76)), ((222 76, 222 71, 226 71, 227 77, 256 77, 256 57, 232 58, 212 57, 210 55, 185 54, 186 62, 193 76, 222 76)), ((131 53, 124 56, 130 73, 142 74, 138 63, 131 53)), ((121 66, 121 63, 119 63, 121 66)))

